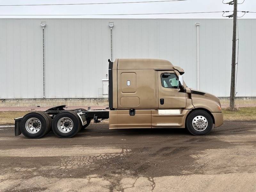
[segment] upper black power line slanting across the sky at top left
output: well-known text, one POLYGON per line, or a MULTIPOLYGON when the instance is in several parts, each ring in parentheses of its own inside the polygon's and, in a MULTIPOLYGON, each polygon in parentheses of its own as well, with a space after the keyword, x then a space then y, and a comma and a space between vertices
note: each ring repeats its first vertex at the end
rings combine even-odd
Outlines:
POLYGON ((46 6, 46 5, 98 5, 98 4, 132 4, 132 3, 158 3, 158 2, 174 2, 187 0, 157 0, 157 1, 131 1, 131 2, 105 2, 105 3, 68 3, 68 4, 8 4, 0 6, 46 6))

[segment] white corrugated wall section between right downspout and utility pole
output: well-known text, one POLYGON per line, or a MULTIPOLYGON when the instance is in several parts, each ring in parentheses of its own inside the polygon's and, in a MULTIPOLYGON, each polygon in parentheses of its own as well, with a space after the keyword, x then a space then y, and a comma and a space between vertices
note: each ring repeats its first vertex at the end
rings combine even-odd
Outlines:
POLYGON ((199 88, 220 97, 230 90, 232 21, 199 20, 199 88))

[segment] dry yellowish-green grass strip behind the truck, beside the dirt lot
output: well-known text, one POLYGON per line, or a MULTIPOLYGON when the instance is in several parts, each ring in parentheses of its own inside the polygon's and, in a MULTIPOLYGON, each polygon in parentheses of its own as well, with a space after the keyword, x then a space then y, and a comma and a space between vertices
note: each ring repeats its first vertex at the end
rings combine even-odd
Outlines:
MULTIPOLYGON (((14 124, 14 118, 24 116, 28 112, 0 111, 0 125, 14 124)), ((256 107, 241 107, 238 108, 238 111, 222 109, 222 114, 224 120, 256 120, 256 107)), ((104 121, 104 123, 108 123, 108 121, 104 121)))

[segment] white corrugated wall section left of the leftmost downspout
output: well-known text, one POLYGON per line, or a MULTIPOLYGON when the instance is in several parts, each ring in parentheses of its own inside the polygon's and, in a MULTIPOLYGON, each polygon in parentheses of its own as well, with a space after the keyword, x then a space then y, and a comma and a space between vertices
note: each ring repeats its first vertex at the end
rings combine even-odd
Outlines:
POLYGON ((41 27, 34 20, 0 20, 0 98, 42 97, 41 27))

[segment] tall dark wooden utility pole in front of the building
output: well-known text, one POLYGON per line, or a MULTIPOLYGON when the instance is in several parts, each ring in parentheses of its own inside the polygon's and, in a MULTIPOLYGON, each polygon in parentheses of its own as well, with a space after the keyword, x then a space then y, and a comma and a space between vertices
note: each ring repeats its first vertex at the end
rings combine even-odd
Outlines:
POLYGON ((232 43, 232 63, 231 63, 231 85, 230 85, 230 103, 231 111, 235 108, 235 81, 236 81, 236 20, 237 20, 237 0, 234 0, 233 12, 233 43, 232 43))

